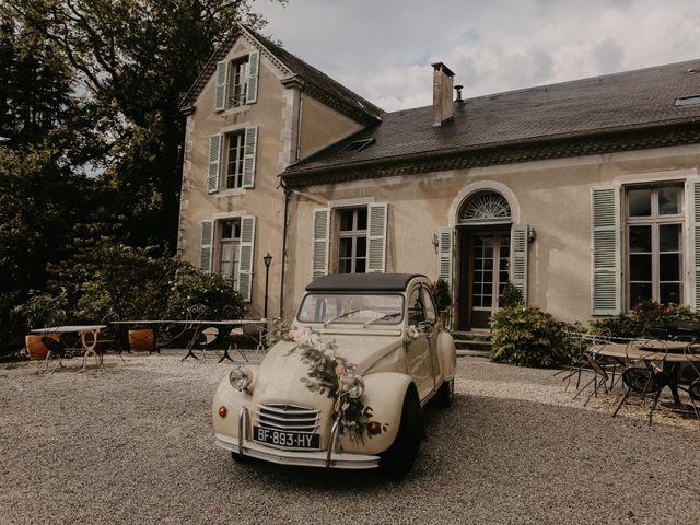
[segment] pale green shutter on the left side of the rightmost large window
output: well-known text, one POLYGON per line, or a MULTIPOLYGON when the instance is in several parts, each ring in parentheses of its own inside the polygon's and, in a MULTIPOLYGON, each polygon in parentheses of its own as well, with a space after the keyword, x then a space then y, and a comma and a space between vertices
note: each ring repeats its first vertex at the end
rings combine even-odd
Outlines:
POLYGON ((619 199, 615 188, 591 189, 591 267, 593 315, 620 311, 619 199))

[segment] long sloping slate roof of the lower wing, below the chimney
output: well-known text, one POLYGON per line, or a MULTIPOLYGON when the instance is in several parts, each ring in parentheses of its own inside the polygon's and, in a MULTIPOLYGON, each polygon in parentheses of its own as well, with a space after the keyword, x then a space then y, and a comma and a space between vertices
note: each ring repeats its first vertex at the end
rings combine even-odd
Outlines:
POLYGON ((700 142, 700 104, 675 105, 689 95, 700 95, 700 60, 468 98, 442 127, 432 106, 388 113, 282 177, 295 187, 700 142), (375 142, 339 152, 361 139, 375 142))

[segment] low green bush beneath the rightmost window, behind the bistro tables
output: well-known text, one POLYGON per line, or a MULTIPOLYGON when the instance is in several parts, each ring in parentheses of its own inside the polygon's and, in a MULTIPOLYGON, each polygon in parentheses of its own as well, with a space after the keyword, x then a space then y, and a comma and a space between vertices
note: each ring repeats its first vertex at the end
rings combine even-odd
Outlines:
POLYGON ((641 301, 629 315, 620 314, 596 320, 591 331, 609 331, 612 337, 622 338, 658 337, 658 330, 667 328, 668 323, 676 319, 700 320, 700 315, 692 313, 687 306, 641 301))

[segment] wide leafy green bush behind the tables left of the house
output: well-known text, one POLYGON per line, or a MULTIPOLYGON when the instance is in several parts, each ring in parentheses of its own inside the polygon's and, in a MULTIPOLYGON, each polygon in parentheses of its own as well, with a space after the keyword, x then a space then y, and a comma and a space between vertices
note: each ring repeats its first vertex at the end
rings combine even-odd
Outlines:
POLYGON ((107 238, 82 246, 49 272, 48 290, 14 308, 27 328, 98 323, 113 312, 121 319, 184 319, 198 303, 212 318, 245 314, 241 294, 221 276, 107 238))

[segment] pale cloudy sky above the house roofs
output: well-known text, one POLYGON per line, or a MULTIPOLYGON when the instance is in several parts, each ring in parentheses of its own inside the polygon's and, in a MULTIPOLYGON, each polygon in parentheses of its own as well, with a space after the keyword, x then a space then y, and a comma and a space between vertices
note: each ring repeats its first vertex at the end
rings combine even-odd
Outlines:
POLYGON ((698 0, 259 0, 264 33, 386 110, 700 58, 698 0))

